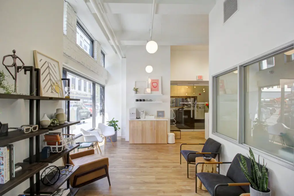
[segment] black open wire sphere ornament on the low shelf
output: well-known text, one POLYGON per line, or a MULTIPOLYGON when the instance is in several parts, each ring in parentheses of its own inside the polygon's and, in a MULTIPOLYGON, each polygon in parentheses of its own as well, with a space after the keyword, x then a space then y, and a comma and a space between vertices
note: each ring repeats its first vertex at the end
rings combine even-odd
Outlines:
POLYGON ((54 185, 60 177, 60 170, 56 166, 46 167, 41 174, 41 182, 43 185, 54 185))

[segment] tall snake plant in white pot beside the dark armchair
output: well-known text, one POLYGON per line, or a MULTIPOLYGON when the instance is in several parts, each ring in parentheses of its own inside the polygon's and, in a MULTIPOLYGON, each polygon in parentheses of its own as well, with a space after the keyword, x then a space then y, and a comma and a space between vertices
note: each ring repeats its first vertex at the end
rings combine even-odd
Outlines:
POLYGON ((250 182, 250 196, 270 196, 270 189, 268 188, 268 173, 266 171, 266 164, 260 168, 259 165, 259 156, 258 156, 258 165, 255 162, 255 157, 251 148, 249 148, 250 162, 251 162, 251 171, 249 173, 245 157, 240 155, 240 166, 241 170, 244 173, 247 180, 250 182))

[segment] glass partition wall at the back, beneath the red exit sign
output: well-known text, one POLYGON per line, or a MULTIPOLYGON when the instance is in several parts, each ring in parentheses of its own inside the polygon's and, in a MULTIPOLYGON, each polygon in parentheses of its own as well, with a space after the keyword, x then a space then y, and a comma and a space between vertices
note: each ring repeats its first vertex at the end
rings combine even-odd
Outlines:
POLYGON ((171 84, 171 125, 178 129, 205 129, 208 85, 171 84))

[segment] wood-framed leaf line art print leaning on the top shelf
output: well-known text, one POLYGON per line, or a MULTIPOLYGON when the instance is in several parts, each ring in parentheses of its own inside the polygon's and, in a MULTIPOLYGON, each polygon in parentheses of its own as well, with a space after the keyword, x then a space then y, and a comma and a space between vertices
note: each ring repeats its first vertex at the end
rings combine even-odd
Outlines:
POLYGON ((63 97, 59 62, 37 50, 34 50, 34 59, 35 67, 41 72, 41 96, 63 97))

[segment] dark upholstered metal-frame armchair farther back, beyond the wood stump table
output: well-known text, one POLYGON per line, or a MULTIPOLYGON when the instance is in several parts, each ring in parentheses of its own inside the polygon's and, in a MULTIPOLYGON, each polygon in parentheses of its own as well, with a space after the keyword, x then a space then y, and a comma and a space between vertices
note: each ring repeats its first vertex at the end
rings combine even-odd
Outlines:
MULTIPOLYGON (((205 144, 181 144, 180 147, 180 164, 182 164, 182 155, 187 161, 187 178, 189 178, 189 164, 195 165, 196 157, 202 157, 204 155, 211 156, 212 158, 216 158, 218 155, 218 162, 220 161, 220 150, 221 144, 211 138, 208 138, 205 144), (182 150, 182 145, 204 145, 201 152, 193 151, 193 150, 182 150)), ((218 172, 219 172, 219 165, 218 172)))

